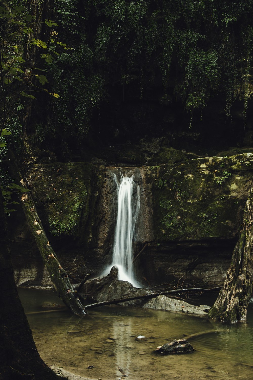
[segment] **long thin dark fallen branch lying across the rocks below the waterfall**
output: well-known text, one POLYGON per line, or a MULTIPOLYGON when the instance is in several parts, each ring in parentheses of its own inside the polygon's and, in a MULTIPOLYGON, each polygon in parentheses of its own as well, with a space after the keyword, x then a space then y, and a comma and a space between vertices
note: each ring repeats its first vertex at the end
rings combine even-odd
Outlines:
POLYGON ((207 289, 207 288, 173 289, 173 290, 162 291, 159 293, 141 294, 141 295, 138 295, 135 297, 126 297, 126 298, 110 299, 109 301, 95 302, 93 304, 86 305, 85 310, 86 309, 93 309, 94 307, 99 307, 99 306, 118 304, 119 302, 132 301, 134 299, 156 298, 157 296, 160 296, 160 295, 187 293, 187 292, 193 292, 193 291, 201 291, 201 292, 203 292, 203 291, 214 291, 216 289, 217 288, 212 288, 212 289, 207 289))

